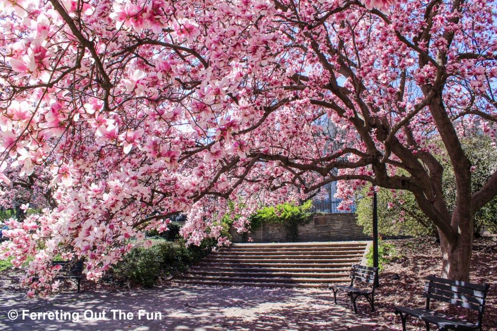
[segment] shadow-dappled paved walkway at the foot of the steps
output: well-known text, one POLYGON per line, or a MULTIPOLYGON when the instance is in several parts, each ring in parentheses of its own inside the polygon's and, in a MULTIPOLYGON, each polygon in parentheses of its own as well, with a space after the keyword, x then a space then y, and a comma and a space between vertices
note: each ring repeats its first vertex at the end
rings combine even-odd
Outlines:
POLYGON ((354 315, 348 304, 333 305, 323 290, 172 286, 63 293, 45 300, 0 293, 0 330, 391 329, 354 315))

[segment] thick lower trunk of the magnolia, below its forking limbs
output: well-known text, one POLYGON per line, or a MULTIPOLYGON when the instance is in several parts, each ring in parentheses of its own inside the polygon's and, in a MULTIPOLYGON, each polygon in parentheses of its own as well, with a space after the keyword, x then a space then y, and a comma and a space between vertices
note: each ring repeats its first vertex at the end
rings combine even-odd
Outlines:
POLYGON ((442 278, 468 281, 471 253, 473 251, 473 218, 467 213, 461 217, 458 210, 452 215, 452 226, 458 233, 456 239, 448 241, 439 230, 440 246, 442 247, 442 278), (468 219, 469 218, 469 219, 468 219), (456 226, 454 226, 456 225, 456 226))

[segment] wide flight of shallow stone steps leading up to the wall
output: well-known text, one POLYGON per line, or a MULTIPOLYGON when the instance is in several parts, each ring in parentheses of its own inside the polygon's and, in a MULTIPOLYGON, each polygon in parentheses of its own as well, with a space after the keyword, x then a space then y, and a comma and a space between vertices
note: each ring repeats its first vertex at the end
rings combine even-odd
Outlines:
POLYGON ((348 281, 350 267, 361 263, 367 242, 233 244, 213 252, 178 284, 261 287, 324 287, 348 281))

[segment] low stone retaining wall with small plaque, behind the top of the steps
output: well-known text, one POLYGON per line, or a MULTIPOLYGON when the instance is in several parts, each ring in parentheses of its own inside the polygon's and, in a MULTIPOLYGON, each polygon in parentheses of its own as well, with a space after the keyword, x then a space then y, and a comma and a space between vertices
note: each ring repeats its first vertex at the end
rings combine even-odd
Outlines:
MULTIPOLYGON (((309 224, 301 225, 298 231, 297 242, 307 241, 341 241, 341 240, 370 240, 362 233, 362 226, 356 223, 355 213, 320 214, 311 218, 309 224)), ((243 238, 235 229, 230 231, 232 242, 241 243, 243 238)), ((281 243, 288 242, 283 224, 264 223, 262 227, 248 232, 254 243, 281 243)))

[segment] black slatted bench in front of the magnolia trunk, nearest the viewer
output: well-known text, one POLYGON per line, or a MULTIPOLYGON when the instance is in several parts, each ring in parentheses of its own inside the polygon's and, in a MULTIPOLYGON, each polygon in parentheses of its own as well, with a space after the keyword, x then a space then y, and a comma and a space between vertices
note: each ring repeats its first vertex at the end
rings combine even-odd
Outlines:
POLYGON ((395 314, 400 315, 402 320, 402 329, 406 331, 406 320, 409 316, 423 321, 426 330, 430 330, 430 324, 438 327, 438 330, 482 330, 482 318, 485 307, 485 298, 489 285, 473 284, 464 281, 439 278, 434 276, 427 277, 424 287, 426 297, 425 309, 413 309, 408 307, 395 306, 395 314), (477 323, 473 324, 468 321, 459 320, 430 311, 430 300, 448 302, 450 304, 475 310, 478 312, 477 323))

